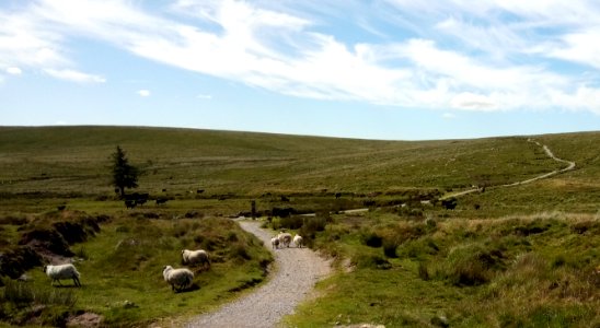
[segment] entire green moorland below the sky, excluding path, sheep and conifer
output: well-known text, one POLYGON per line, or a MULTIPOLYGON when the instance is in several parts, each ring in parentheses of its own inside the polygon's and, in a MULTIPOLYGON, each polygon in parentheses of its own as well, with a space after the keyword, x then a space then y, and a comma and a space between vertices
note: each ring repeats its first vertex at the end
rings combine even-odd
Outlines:
POLYGON ((266 279, 270 253, 228 219, 254 214, 334 259, 291 326, 596 327, 599 199, 600 132, 407 142, 1 127, 0 321, 177 326, 266 279), (565 167, 530 138, 575 169, 500 187, 565 167), (148 194, 132 209, 112 186, 116 145, 148 194), (181 267, 184 248, 211 266, 173 293, 162 268, 181 267), (83 286, 51 286, 43 265, 68 259, 83 286))

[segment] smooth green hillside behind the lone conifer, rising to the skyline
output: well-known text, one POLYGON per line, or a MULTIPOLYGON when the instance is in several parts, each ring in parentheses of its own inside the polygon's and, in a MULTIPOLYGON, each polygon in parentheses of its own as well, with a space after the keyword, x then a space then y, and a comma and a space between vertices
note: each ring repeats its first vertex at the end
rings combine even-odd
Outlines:
MULTIPOLYGON (((575 198, 598 192, 600 132, 535 139, 577 163, 576 171, 542 184, 543 189, 575 198)), ((112 196, 108 165, 116 145, 143 168, 140 190, 166 189, 178 197, 197 189, 245 198, 324 190, 446 192, 514 183, 564 166, 524 137, 407 142, 165 128, 4 127, 0 194, 112 196)))

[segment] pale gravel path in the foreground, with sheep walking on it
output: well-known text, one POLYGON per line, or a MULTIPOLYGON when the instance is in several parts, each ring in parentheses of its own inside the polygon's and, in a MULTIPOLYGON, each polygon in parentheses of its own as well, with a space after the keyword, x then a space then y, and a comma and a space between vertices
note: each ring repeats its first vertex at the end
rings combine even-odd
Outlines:
MULTIPOLYGON (((255 221, 240 221, 270 249, 272 233, 255 221)), ((309 248, 274 250, 276 269, 269 281, 218 311, 194 318, 185 327, 277 327, 285 315, 307 298, 314 284, 330 273, 330 263, 309 248)))

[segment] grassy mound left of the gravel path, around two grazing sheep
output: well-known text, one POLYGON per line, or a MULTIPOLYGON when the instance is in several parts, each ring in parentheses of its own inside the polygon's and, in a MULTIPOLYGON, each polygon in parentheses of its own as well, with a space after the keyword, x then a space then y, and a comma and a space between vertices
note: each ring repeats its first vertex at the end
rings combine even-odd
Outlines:
MULTIPOLYGON (((249 285, 264 281, 265 266, 272 260, 262 242, 226 219, 125 215, 112 219, 101 229, 95 237, 71 247, 76 259, 83 256, 76 262, 81 273, 81 289, 69 288, 71 281, 62 282, 67 288, 50 286, 41 268, 27 272, 30 282, 20 283, 36 293, 68 291, 77 302, 67 307, 37 298, 26 303, 44 304, 47 312, 53 309, 55 314, 92 312, 103 315, 109 326, 140 326, 171 317, 181 320, 209 311, 239 296, 249 285), (207 249, 212 265, 206 271, 196 271, 192 291, 173 293, 163 281, 162 268, 182 267, 181 249, 184 248, 207 249)), ((0 302, 7 304, 4 319, 12 318, 12 324, 20 324, 14 321, 20 317, 33 316, 27 315, 28 307, 11 308, 14 302, 2 300, 8 302, 0 302)))

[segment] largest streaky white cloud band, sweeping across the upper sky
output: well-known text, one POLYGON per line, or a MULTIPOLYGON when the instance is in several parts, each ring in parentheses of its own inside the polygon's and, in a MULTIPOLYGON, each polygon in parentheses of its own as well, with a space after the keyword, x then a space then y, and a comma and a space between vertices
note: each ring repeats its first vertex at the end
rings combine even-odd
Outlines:
POLYGON ((0 62, 104 82, 76 74, 77 58, 66 55, 69 40, 86 37, 298 97, 600 114, 600 83, 589 78, 600 69, 600 5, 593 1, 388 0, 372 11, 353 9, 359 23, 350 31, 323 23, 342 4, 318 10, 316 1, 292 3, 180 0, 157 10, 118 0, 37 0, 16 13, 0 12, 7 22, 0 27, 0 62), (379 40, 342 35, 353 32, 379 40))

